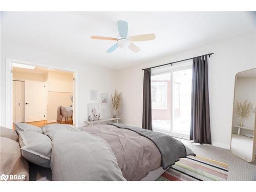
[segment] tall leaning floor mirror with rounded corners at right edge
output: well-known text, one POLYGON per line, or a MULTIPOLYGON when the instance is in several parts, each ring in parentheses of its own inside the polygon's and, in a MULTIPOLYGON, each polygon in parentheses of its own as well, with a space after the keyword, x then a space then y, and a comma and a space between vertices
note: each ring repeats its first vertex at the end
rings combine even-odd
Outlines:
POLYGON ((231 152, 247 161, 255 160, 256 69, 236 75, 233 101, 231 152))

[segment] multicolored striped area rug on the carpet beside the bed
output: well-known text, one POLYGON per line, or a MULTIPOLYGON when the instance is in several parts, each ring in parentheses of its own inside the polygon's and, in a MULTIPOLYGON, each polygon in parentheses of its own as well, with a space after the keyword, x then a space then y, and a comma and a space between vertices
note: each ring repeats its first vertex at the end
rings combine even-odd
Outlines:
POLYGON ((226 181, 228 164, 188 156, 168 168, 156 181, 226 181))

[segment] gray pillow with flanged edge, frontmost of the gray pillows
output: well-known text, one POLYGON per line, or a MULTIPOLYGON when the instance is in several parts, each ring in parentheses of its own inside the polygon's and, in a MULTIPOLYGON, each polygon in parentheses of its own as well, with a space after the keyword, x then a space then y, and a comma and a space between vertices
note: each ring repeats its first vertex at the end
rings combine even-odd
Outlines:
POLYGON ((44 134, 34 131, 17 131, 22 156, 42 167, 50 167, 52 140, 44 134))

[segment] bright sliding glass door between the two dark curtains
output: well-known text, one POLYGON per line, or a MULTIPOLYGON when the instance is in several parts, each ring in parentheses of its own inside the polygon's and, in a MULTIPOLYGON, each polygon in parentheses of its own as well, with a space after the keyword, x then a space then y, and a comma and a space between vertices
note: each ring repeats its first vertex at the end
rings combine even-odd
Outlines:
POLYGON ((192 69, 188 64, 152 75, 153 130, 181 137, 189 135, 192 69))

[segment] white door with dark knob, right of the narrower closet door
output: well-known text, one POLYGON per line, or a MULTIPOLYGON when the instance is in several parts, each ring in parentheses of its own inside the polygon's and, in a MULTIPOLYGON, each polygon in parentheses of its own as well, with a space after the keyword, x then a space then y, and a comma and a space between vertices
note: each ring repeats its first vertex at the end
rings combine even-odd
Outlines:
POLYGON ((25 122, 46 120, 46 83, 25 81, 25 122))

